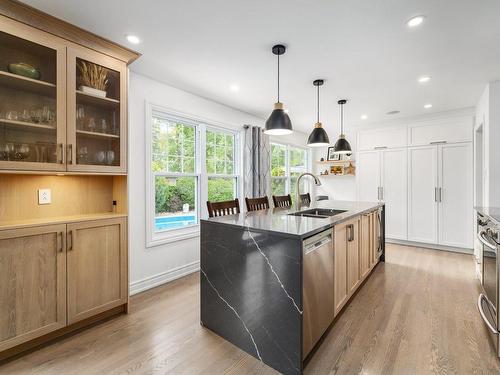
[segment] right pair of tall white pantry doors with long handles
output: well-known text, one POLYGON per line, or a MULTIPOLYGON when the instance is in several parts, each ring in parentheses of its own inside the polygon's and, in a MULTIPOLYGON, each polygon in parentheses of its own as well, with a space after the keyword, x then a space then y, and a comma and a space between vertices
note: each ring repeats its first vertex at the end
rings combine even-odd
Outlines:
POLYGON ((472 248, 470 143, 409 149, 408 240, 472 248))

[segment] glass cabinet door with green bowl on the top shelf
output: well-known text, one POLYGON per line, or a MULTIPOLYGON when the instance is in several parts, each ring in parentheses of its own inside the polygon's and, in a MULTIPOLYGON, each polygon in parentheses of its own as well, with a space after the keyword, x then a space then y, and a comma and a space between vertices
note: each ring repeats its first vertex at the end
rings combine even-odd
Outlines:
POLYGON ((65 170, 65 54, 49 34, 0 25, 0 170, 65 170))

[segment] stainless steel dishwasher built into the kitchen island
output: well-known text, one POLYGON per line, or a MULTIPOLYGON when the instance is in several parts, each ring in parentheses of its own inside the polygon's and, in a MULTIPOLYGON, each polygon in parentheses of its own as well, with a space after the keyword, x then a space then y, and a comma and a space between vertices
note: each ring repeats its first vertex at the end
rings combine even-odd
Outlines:
POLYGON ((333 321, 333 229, 302 244, 302 350, 304 357, 333 321))

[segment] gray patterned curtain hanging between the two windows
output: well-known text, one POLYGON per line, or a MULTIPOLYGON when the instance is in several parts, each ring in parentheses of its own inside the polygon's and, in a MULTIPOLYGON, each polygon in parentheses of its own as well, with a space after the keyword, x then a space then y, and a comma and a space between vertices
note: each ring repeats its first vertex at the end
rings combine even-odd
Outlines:
POLYGON ((258 126, 245 125, 243 147, 243 187, 249 198, 269 195, 270 145, 269 136, 258 126))

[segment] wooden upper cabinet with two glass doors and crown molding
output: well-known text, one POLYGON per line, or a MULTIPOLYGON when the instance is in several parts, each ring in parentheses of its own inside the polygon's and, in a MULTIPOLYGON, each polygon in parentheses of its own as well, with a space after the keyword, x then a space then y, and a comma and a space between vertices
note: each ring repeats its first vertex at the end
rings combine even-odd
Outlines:
POLYGON ((0 21, 0 171, 125 174, 132 52, 0 21))

